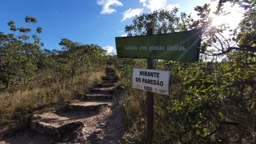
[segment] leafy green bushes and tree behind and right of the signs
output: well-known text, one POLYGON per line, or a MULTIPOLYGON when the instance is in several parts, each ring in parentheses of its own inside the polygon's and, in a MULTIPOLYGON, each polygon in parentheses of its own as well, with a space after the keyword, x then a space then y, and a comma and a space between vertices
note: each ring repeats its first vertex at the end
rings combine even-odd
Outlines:
MULTIPOLYGON (((146 35, 146 25, 151 21, 156 23, 156 33, 203 29, 199 62, 156 62, 157 69, 170 70, 171 86, 170 96, 155 94, 154 143, 239 143, 239 139, 254 142, 253 130, 241 129, 240 124, 230 122, 226 109, 256 114, 255 4, 255 1, 220 1, 215 11, 210 9, 210 4, 204 4, 195 7, 198 20, 186 13, 181 13, 179 18, 178 9, 155 11, 136 16, 133 24, 125 27, 129 36, 146 35), (245 9, 244 19, 234 30, 227 24, 211 26, 210 13, 229 14, 223 8, 227 2, 245 9), (173 26, 166 25, 168 22, 173 26), (232 32, 230 37, 225 35, 228 31, 232 32), (239 133, 243 134, 238 138, 239 133)), ((120 61, 123 63, 119 68, 127 73, 123 74, 125 79, 131 77, 131 67, 146 68, 146 63, 136 63, 143 60, 120 61)), ((140 92, 126 91, 130 97, 125 99, 125 111, 132 123, 127 141, 134 143, 146 143, 146 124, 141 121, 147 114, 143 109, 145 99, 141 99, 146 94, 140 92)))

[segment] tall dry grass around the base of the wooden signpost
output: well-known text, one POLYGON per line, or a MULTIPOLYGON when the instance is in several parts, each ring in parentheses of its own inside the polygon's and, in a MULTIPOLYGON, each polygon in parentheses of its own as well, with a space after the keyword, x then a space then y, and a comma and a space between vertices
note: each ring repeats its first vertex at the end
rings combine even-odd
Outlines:
MULTIPOLYGON (((130 131, 125 139, 131 143, 147 143, 147 91, 129 87, 131 82, 119 83, 125 86, 124 109, 130 131)), ((182 87, 180 84, 170 86, 170 95, 154 94, 154 143, 179 143, 177 140, 183 132, 182 124, 174 121, 167 107, 171 107, 173 101, 182 99, 182 87)))

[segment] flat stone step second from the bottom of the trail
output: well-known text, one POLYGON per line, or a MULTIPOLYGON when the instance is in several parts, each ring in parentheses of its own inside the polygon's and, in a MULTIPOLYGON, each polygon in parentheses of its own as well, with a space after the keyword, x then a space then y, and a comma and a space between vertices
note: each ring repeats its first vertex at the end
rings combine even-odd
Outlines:
POLYGON ((69 104, 68 108, 70 111, 81 111, 81 112, 102 112, 108 109, 109 103, 103 102, 78 102, 69 104))

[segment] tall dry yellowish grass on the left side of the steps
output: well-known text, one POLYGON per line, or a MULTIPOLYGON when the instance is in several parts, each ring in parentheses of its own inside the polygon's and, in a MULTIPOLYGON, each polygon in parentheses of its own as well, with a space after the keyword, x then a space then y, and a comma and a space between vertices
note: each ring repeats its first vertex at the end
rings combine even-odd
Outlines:
POLYGON ((29 86, 10 86, 0 92, 0 138, 1 134, 26 128, 30 115, 47 108, 61 109, 76 96, 85 95, 105 75, 103 67, 82 69, 74 78, 52 81, 51 78, 34 81, 29 86))

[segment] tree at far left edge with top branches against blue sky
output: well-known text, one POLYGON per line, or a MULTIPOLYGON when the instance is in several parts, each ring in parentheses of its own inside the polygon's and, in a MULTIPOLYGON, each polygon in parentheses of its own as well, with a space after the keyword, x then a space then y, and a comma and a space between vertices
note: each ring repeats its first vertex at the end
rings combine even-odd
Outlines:
MULTIPOLYGON (((36 23, 37 19, 26 16, 25 22, 36 23)), ((9 83, 27 84, 34 78, 31 73, 34 72, 37 63, 37 56, 41 53, 43 43, 36 33, 42 33, 42 28, 37 27, 36 32, 31 34, 31 29, 24 27, 15 27, 15 22, 7 23, 10 26, 12 34, 5 35, 0 33, 0 82, 6 89, 9 83), (15 32, 19 31, 18 35, 15 32), (30 39, 34 39, 34 43, 28 43, 30 39)))

